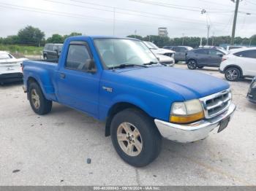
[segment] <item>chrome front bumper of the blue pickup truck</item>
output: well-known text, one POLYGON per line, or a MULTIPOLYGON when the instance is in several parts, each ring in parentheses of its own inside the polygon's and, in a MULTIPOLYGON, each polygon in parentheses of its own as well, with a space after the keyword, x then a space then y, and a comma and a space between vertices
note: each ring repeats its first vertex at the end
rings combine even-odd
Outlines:
POLYGON ((154 122, 161 135, 166 139, 187 143, 205 139, 212 130, 219 128, 222 120, 227 117, 232 117, 235 110, 236 105, 230 104, 228 109, 217 117, 200 120, 186 125, 179 125, 157 119, 155 119, 154 122))

